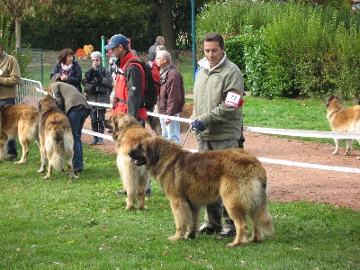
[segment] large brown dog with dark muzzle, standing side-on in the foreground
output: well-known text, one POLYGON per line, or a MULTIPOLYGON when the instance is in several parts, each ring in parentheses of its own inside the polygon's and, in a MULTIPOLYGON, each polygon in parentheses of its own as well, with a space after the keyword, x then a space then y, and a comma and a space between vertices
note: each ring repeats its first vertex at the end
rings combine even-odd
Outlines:
POLYGON ((170 240, 196 238, 202 205, 222 199, 235 222, 236 237, 228 247, 258 242, 272 233, 267 208, 266 170, 257 157, 240 148, 190 153, 161 138, 142 139, 129 155, 163 188, 174 214, 176 233, 170 240), (246 215, 252 225, 247 239, 246 215))

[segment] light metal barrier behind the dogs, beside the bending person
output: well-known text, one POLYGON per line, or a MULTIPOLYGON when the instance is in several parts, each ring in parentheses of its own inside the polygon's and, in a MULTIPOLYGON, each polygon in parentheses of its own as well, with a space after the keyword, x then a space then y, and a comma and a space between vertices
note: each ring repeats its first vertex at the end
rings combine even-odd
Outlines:
POLYGON ((20 85, 17 85, 17 104, 31 104, 38 107, 42 98, 42 84, 40 81, 23 78, 20 85))

